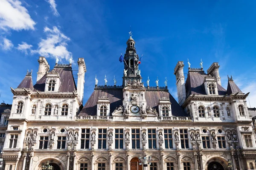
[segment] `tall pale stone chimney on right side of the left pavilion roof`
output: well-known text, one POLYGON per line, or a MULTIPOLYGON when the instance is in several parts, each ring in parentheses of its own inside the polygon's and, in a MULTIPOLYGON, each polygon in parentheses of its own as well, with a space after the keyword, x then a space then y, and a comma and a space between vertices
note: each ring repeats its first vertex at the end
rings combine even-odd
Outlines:
POLYGON ((83 103, 84 98, 84 74, 86 72, 86 66, 84 58, 78 58, 78 77, 77 77, 77 94, 83 103))

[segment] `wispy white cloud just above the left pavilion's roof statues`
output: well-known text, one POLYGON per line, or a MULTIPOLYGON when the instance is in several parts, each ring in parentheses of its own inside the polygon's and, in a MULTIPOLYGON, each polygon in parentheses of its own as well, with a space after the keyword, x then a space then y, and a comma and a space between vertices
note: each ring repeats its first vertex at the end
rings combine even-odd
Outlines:
POLYGON ((32 53, 52 58, 58 54, 60 59, 68 60, 71 52, 67 50, 67 41, 70 41, 70 38, 65 36, 56 26, 52 29, 45 27, 44 32, 47 35, 46 39, 41 39, 38 43, 38 49, 32 50, 32 53))

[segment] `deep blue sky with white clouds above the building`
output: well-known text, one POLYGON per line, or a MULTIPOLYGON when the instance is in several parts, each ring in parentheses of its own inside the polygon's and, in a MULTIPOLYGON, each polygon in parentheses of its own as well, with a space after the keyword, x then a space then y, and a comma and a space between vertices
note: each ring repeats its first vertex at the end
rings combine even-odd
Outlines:
MULTIPOLYGON (((1 0, 0 1, 0 100, 12 103, 10 87, 17 88, 33 69, 36 82, 38 57, 45 56, 50 68, 68 63, 73 69, 84 57, 84 103, 93 92, 97 74, 99 85, 122 84, 128 32, 133 32, 143 81, 164 86, 177 98, 175 76, 178 61, 187 58, 192 68, 200 60, 207 71, 212 62, 221 66, 221 83, 227 88, 227 75, 244 93, 250 92, 248 107, 256 107, 256 1, 87 1, 87 0, 1 0)), ((74 74, 76 72, 74 71, 74 74)))

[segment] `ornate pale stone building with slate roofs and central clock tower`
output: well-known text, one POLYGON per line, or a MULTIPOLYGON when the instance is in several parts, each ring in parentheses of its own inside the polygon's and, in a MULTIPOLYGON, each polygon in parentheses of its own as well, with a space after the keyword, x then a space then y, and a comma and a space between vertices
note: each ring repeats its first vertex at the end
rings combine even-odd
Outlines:
MULTIPOLYGON (((27 72, 13 89, 3 146, 5 170, 256 169, 255 122, 246 97, 228 78, 221 86, 218 62, 207 73, 184 64, 174 69, 178 102, 165 87, 142 82, 135 41, 124 56, 122 86, 97 85, 83 106, 86 67, 79 58, 78 80, 71 64, 52 70, 39 57, 35 85, 27 72), (143 160, 145 160, 143 159, 143 160), (145 168, 145 167, 144 167, 145 168)), ((253 112, 253 111, 252 111, 253 112)), ((2 119, 3 120, 3 119, 2 119)), ((1 120, 1 121, 2 121, 1 120)))

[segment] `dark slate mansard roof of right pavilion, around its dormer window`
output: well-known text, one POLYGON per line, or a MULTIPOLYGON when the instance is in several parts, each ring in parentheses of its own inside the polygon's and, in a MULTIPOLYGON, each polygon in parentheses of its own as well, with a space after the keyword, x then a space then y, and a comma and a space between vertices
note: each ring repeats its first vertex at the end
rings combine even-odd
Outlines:
MULTIPOLYGON (((190 94, 204 94, 206 95, 204 89, 204 78, 207 74, 204 71, 189 71, 188 77, 186 79, 185 87, 186 87, 186 98, 190 94)), ((217 83, 217 89, 219 95, 225 95, 227 93, 226 89, 224 89, 221 85, 217 83)))

